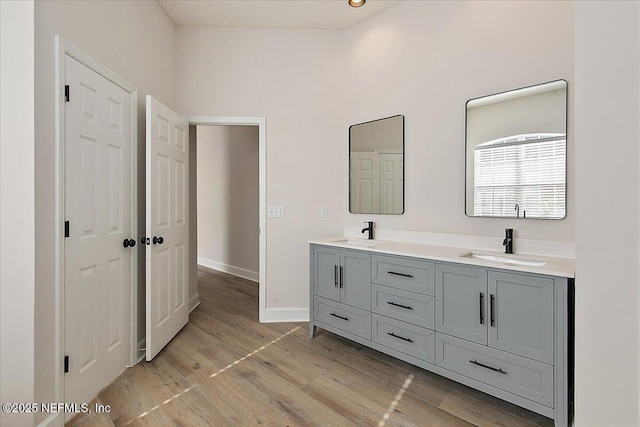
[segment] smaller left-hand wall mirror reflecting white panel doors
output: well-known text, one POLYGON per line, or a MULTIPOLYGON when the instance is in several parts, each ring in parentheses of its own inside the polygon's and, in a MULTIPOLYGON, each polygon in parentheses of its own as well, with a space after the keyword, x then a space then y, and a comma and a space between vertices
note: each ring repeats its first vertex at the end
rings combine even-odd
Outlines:
POLYGON ((349 212, 404 213, 404 116, 349 127, 349 212))

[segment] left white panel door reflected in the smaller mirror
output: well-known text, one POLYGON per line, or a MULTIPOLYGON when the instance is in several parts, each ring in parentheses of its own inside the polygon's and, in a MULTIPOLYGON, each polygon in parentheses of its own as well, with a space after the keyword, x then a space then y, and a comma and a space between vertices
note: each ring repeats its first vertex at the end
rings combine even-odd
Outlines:
POLYGON ((351 153, 351 191, 349 209, 352 213, 378 211, 378 153, 351 153))

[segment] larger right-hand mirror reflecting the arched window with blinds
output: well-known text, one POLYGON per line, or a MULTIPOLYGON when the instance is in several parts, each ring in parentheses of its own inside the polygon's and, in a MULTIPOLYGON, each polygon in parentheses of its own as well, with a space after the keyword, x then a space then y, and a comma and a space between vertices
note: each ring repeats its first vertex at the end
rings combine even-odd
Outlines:
POLYGON ((466 214, 566 216, 567 82, 467 101, 466 214))

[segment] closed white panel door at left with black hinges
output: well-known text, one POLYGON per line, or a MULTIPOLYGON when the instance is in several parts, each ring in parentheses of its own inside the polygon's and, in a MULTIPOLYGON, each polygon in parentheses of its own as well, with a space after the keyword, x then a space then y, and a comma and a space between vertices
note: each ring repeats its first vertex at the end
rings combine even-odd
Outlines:
POLYGON ((82 403, 130 355, 131 99, 69 56, 65 67, 64 399, 82 403))

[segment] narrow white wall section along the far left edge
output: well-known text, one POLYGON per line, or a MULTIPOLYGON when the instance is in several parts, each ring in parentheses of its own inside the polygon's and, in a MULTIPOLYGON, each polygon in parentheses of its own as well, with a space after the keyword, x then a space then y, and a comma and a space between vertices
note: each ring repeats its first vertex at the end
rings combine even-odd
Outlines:
MULTIPOLYGON (((0 402, 34 402, 33 1, 0 2, 0 402)), ((0 412, 2 426, 33 414, 0 412)))

